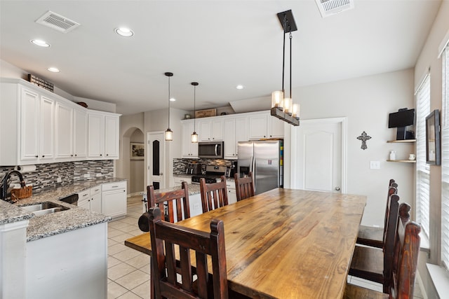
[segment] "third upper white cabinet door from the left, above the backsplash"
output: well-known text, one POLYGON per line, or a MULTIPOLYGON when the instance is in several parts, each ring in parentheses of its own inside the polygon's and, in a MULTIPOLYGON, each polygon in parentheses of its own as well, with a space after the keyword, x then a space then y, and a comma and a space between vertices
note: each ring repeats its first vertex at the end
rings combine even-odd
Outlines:
POLYGON ((56 103, 55 159, 69 161, 73 158, 73 107, 56 103))

